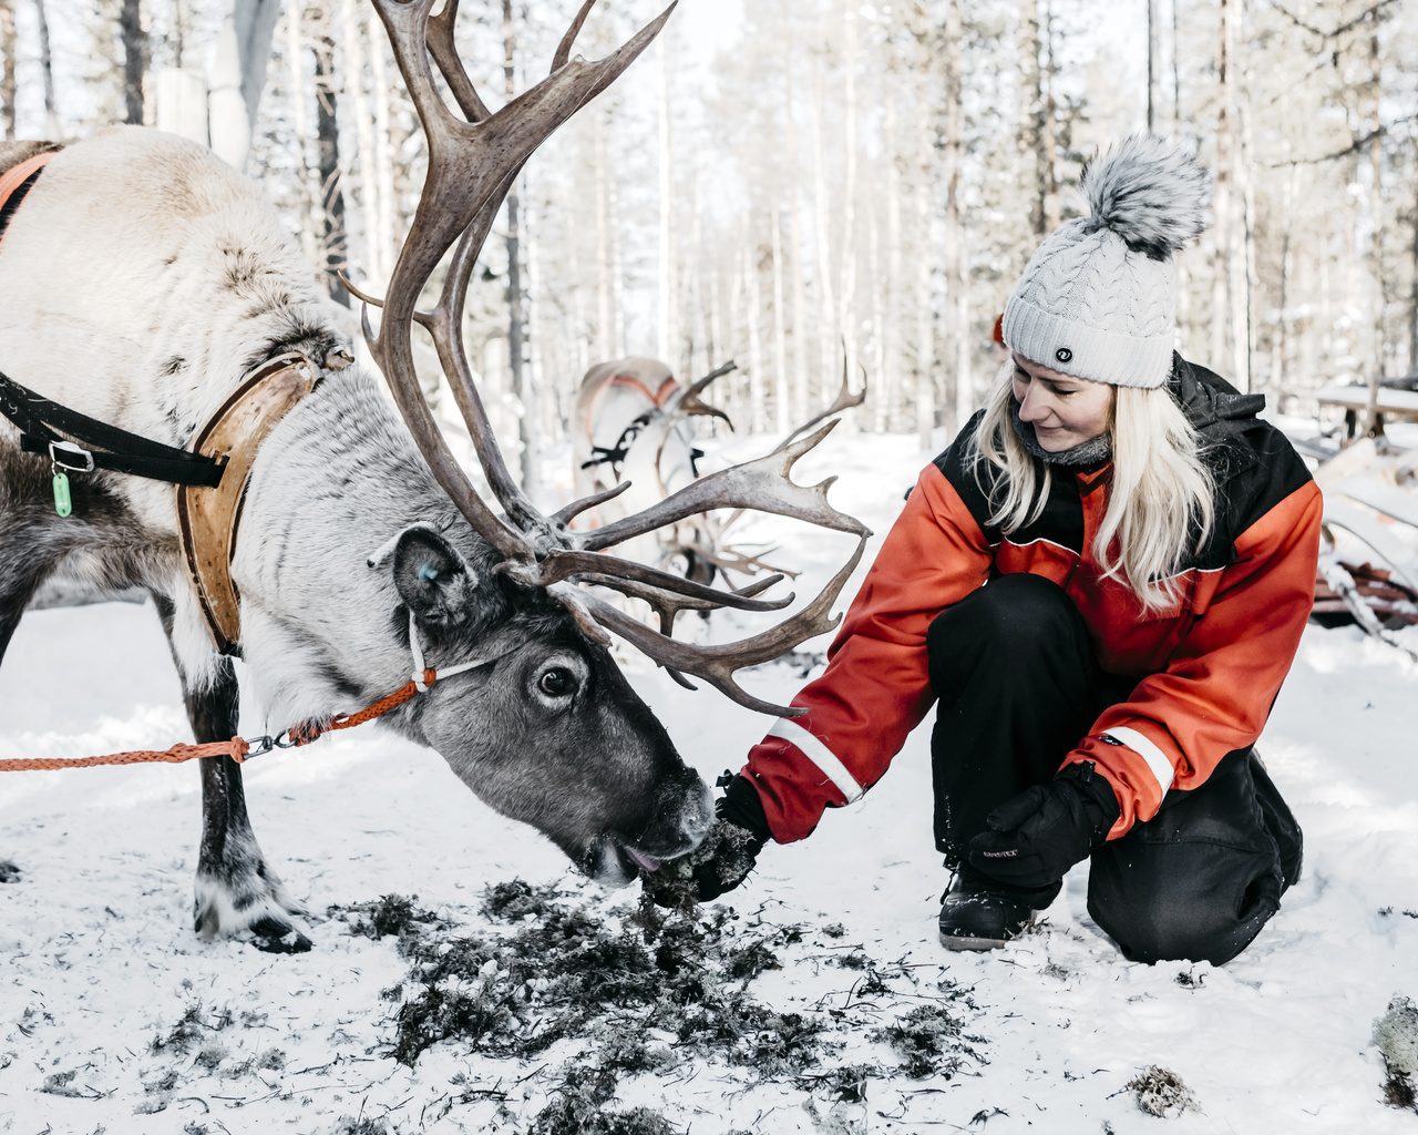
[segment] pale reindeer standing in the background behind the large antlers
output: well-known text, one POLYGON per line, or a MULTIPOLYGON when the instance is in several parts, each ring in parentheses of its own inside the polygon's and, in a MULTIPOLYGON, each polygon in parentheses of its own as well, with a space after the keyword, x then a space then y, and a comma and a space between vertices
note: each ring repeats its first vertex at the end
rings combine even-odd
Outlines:
MULTIPOLYGON (((591 511, 587 519, 596 525, 608 524, 678 492, 699 477, 698 461, 703 453, 695 448, 689 420, 718 417, 733 428, 729 416, 706 403, 702 394, 710 383, 736 369, 736 363, 725 363, 688 389, 657 359, 631 356, 597 363, 586 372, 571 413, 576 492, 591 495, 611 488, 623 477, 630 481, 630 489, 591 511)), ((849 393, 844 370, 837 400, 787 440, 859 406, 864 399, 865 387, 849 393)), ((756 576, 764 570, 784 570, 795 575, 770 568, 757 555, 729 545, 727 529, 739 515, 726 519, 713 514, 689 516, 628 543, 624 555, 641 563, 672 568, 703 585, 712 583, 716 572, 756 576)))

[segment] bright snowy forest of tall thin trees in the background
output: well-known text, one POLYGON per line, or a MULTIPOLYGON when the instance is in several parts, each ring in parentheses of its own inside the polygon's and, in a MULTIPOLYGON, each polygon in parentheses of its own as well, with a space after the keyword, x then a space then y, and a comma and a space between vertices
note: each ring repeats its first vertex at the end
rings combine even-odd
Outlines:
MULTIPOLYGON (((569 14, 467 6, 479 89, 525 89, 569 14)), ((217 105, 224 16, 3 0, 6 136, 133 122, 206 140, 193 106, 208 88, 217 105)), ((601 6, 581 52, 647 16, 601 6)), ((237 160, 332 297, 350 302, 340 270, 377 295, 424 160, 387 38, 356 0, 261 20, 269 62, 237 160)), ((855 427, 929 448, 980 404, 994 319, 1039 238, 1078 216, 1082 165, 1143 128, 1215 173, 1215 221, 1181 258, 1185 358, 1300 416, 1326 384, 1418 372, 1411 4, 685 6, 647 64, 529 166, 469 301, 491 400, 535 444, 564 437, 593 362, 698 377, 736 359, 710 393, 761 431, 830 402, 845 352, 869 392, 855 427)))

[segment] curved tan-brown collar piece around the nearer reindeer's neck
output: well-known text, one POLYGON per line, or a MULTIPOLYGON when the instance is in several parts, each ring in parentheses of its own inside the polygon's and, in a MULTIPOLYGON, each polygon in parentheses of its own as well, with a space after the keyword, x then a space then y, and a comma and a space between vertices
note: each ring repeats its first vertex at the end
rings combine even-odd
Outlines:
POLYGON ((319 383, 320 370, 305 355, 279 355, 250 375, 208 419, 193 453, 225 460, 217 488, 177 487, 182 549, 213 646, 234 654, 241 638, 241 602, 231 580, 241 502, 251 465, 267 434, 319 383))

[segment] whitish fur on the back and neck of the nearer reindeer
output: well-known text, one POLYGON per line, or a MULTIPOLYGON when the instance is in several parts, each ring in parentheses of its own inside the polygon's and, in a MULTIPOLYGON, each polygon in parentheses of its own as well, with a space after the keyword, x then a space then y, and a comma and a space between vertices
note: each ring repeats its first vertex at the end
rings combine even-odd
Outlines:
MULTIPOLYGON (((347 349, 340 322, 259 190, 156 131, 119 126, 57 153, 0 253, 0 370, 172 445, 189 444, 262 360, 254 348, 347 349), (174 359, 186 360, 176 372, 174 359)), ((177 663, 191 685, 208 684, 217 655, 180 558, 174 491, 138 477, 109 484, 153 539, 142 582, 174 604, 177 663)), ((242 654, 274 728, 359 708, 342 675, 360 675, 372 697, 407 681, 386 617, 397 594, 364 556, 411 521, 452 526, 451 514, 357 366, 328 373, 278 426, 252 471, 233 565, 242 654)))

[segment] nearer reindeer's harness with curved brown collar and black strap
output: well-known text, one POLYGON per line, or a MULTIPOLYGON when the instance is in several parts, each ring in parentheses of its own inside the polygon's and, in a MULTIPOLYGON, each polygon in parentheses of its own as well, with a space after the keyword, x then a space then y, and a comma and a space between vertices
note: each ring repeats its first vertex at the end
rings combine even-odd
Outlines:
MULTIPOLYGON (((40 153, 0 175, 0 245, 10 218, 52 157, 54 152, 40 153)), ((261 363, 207 419, 190 450, 95 421, 3 376, 0 413, 18 426, 21 448, 48 453, 57 471, 106 468, 176 484, 179 538, 207 634, 221 654, 234 654, 241 638, 241 602, 231 558, 257 451, 277 423, 319 384, 323 370, 343 370, 350 362, 353 358, 336 348, 323 365, 301 352, 261 363), (62 440, 60 433, 74 440, 62 440)))

